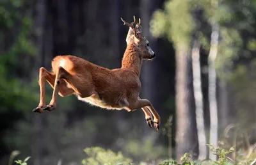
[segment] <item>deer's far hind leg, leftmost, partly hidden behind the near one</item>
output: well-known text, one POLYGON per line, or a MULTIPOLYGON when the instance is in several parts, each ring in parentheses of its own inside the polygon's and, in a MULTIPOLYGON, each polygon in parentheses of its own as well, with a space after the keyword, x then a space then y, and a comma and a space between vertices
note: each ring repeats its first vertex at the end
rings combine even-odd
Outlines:
MULTIPOLYGON (((39 81, 38 81, 38 84, 40 86, 40 102, 38 104, 38 107, 33 109, 33 112, 42 113, 44 111, 43 107, 46 105, 45 104, 45 81, 47 81, 53 88, 54 87, 54 79, 55 79, 54 74, 51 74, 51 72, 46 70, 44 67, 40 68, 39 81)), ((74 93, 74 90, 67 88, 67 86, 65 86, 65 84, 63 84, 60 87, 59 95, 61 95, 62 97, 71 95, 72 93, 74 93)))

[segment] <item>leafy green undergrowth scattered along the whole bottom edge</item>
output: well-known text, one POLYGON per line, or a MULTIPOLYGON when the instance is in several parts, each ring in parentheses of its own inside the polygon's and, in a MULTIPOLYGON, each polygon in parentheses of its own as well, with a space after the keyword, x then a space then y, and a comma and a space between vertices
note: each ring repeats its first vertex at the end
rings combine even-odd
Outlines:
MULTIPOLYGON (((237 153, 237 159, 236 161, 228 157, 230 153, 235 153, 236 150, 234 147, 231 147, 229 150, 221 148, 220 146, 214 148, 212 145, 209 146, 211 153, 218 156, 217 161, 211 161, 209 159, 205 159, 203 161, 193 161, 190 153, 185 153, 183 157, 180 158, 180 161, 177 162, 175 160, 165 160, 162 162, 159 162, 157 164, 159 165, 238 165, 238 164, 248 164, 248 165, 256 165, 256 151, 254 151, 250 157, 243 157, 237 153)), ((15 151, 17 152, 17 151, 15 151)), ((90 147, 84 149, 84 152, 86 153, 87 157, 81 161, 81 164, 83 165, 135 165, 135 163, 132 162, 132 159, 124 157, 124 155, 121 152, 115 153, 112 150, 105 150, 103 148, 100 148, 98 146, 96 147, 90 147)), ((9 165, 12 164, 12 161, 16 155, 19 153, 14 153, 10 157, 9 165), (14 157, 13 157, 14 156, 14 157)), ((27 157, 22 160, 14 161, 15 164, 20 165, 28 165, 27 161, 30 157, 27 157)), ((138 165, 149 165, 146 162, 140 162, 138 165)), ((150 164, 151 165, 151 164, 150 164)))

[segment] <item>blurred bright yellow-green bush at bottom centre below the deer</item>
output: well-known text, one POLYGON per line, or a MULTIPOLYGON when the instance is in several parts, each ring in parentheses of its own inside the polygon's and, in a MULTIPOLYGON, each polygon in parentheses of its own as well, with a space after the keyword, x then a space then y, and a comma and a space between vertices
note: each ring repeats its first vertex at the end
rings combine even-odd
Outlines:
POLYGON ((86 159, 83 159, 82 164, 131 164, 132 160, 124 157, 121 152, 115 153, 111 150, 104 150, 100 147, 90 147, 84 149, 84 152, 88 155, 86 159))

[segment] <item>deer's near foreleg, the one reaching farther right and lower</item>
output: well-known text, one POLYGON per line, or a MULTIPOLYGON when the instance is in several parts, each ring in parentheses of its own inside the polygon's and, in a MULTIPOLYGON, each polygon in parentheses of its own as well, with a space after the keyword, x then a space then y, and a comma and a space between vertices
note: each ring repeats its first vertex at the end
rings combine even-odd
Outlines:
POLYGON ((156 110, 154 109, 154 107, 152 106, 152 104, 150 103, 150 101, 148 101, 147 99, 140 99, 138 97, 138 99, 135 102, 129 105, 129 109, 131 110, 139 109, 142 107, 147 107, 150 113, 152 113, 152 115, 154 116, 154 126, 156 130, 159 130, 161 118, 159 114, 156 112, 156 110))

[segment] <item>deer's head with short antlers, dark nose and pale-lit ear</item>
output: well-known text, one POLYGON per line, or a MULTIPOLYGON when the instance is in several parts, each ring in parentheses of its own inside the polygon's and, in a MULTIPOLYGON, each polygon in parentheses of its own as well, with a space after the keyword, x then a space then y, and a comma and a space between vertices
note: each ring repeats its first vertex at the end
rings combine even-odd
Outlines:
POLYGON ((156 54, 149 47, 148 40, 145 38, 145 36, 143 36, 141 20, 139 19, 139 22, 137 22, 135 16, 133 16, 133 19, 134 21, 129 24, 121 18, 121 20, 124 22, 124 25, 129 26, 129 31, 126 37, 127 45, 134 44, 138 48, 137 51, 140 52, 143 59, 154 59, 156 54))

